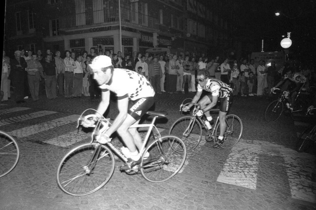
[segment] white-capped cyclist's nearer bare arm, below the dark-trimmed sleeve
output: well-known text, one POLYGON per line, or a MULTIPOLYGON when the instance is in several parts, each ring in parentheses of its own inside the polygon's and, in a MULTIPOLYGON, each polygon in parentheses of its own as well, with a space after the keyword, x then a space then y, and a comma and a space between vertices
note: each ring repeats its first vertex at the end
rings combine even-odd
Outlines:
POLYGON ((127 117, 128 97, 118 100, 119 114, 113 121, 110 128, 105 132, 106 136, 111 136, 124 122, 127 117))

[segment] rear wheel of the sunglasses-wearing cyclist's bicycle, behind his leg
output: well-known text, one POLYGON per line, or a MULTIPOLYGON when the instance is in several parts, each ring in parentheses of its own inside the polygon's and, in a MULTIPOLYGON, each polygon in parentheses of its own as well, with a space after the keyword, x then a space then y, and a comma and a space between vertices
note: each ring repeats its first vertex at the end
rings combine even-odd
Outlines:
MULTIPOLYGON (((242 135, 243 126, 241 119, 234 114, 227 115, 225 122, 227 125, 224 133, 224 143, 221 145, 221 147, 227 149, 235 146, 239 142, 242 135)), ((218 140, 217 136, 220 134, 220 123, 216 125, 215 133, 215 138, 218 140)))

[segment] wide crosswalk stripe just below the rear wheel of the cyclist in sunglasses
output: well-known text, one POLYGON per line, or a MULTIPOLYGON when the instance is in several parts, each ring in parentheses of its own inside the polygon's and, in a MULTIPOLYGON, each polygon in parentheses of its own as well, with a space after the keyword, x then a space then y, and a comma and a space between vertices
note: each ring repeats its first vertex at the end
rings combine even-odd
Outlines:
POLYGON ((255 190, 260 150, 260 145, 239 142, 231 149, 217 181, 255 190))

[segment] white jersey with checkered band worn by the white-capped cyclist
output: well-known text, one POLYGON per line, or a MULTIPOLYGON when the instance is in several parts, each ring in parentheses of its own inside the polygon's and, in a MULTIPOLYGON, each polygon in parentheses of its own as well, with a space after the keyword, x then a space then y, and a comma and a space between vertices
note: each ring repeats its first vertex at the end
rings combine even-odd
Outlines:
POLYGON ((100 88, 102 91, 110 90, 116 93, 118 99, 128 97, 131 100, 137 100, 155 95, 146 77, 128 69, 115 68, 110 81, 100 85, 100 88))

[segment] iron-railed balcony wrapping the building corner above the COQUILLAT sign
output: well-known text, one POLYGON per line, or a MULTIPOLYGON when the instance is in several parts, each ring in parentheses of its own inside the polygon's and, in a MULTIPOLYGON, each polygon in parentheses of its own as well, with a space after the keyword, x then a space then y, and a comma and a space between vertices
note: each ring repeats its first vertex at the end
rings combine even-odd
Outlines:
MULTIPOLYGON (((157 18, 121 8, 121 22, 129 26, 137 25, 159 30, 159 20, 157 18)), ((119 9, 102 9, 97 11, 87 11, 84 13, 67 14, 60 17, 60 28, 70 29, 84 26, 97 26, 102 23, 119 24, 119 9)))

